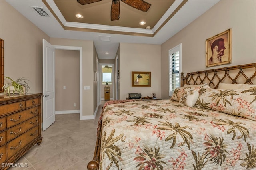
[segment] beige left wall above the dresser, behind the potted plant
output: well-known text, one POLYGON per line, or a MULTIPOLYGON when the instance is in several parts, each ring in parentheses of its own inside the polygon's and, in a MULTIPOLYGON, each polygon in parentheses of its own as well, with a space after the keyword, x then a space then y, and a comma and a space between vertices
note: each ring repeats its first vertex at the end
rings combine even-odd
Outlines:
POLYGON ((0 0, 0 38, 4 40, 4 75, 15 80, 27 77, 29 93, 42 93, 43 38, 50 42, 50 37, 0 0))

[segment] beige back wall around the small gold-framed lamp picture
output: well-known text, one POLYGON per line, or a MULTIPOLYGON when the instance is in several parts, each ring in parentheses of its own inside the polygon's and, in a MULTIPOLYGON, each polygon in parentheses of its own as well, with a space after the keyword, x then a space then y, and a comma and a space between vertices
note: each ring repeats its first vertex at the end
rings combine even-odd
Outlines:
POLYGON ((126 99, 130 92, 161 97, 160 53, 160 45, 120 43, 120 99, 126 99), (132 87, 132 71, 150 71, 151 87, 132 87))

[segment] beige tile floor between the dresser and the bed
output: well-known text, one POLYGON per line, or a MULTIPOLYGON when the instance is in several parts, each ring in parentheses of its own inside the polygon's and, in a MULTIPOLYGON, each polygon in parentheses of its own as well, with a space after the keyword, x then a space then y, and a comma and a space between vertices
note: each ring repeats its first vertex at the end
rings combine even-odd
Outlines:
POLYGON ((98 107, 95 121, 80 121, 78 113, 56 115, 56 121, 42 131, 42 143, 34 145, 16 162, 26 163, 27 167, 8 170, 86 170, 93 158, 102 106, 98 107))

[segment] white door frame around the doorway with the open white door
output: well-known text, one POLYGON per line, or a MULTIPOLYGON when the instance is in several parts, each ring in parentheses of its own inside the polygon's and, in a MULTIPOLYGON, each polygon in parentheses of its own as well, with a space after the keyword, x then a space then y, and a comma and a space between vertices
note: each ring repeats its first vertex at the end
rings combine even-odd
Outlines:
POLYGON ((83 95, 82 95, 82 90, 83 90, 83 76, 82 76, 82 47, 74 47, 74 46, 62 46, 62 45, 52 45, 55 49, 61 49, 61 50, 77 50, 79 51, 79 81, 80 81, 80 86, 79 86, 79 91, 80 91, 80 108, 79 108, 79 114, 80 114, 80 120, 83 120, 82 117, 83 117, 83 95))

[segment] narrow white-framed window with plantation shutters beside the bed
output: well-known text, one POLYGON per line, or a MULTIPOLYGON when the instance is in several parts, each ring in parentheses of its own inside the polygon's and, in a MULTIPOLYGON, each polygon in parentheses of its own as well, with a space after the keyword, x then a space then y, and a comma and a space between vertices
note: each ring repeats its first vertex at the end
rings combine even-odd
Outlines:
POLYGON ((180 87, 181 44, 169 50, 169 96, 180 87))

